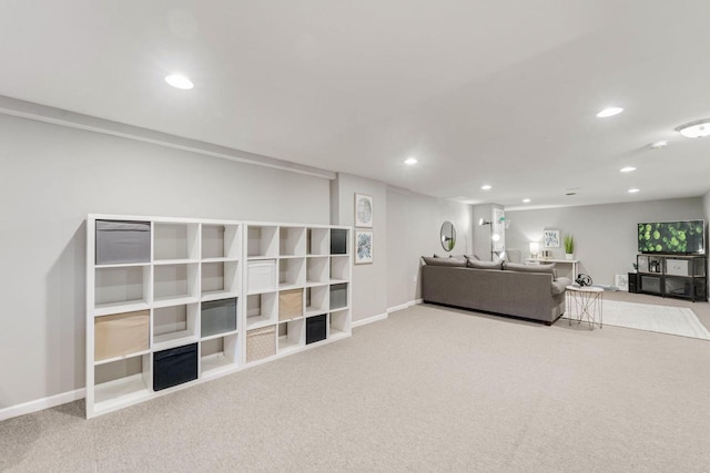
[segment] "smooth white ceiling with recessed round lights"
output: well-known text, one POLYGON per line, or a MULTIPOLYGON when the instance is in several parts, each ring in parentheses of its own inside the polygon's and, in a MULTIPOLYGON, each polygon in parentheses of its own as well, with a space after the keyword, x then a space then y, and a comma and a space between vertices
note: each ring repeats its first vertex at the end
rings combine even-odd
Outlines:
POLYGON ((708 18, 707 0, 0 0, 0 95, 507 208, 699 196, 710 137, 673 128, 710 117, 708 18))

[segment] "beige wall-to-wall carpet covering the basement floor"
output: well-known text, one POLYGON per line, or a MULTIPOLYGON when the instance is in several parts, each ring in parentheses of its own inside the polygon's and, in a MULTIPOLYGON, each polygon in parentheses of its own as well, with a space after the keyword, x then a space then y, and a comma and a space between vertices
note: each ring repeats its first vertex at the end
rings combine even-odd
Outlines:
POLYGON ((706 472, 709 366, 704 340, 415 306, 91 421, 1 422, 0 470, 706 472))

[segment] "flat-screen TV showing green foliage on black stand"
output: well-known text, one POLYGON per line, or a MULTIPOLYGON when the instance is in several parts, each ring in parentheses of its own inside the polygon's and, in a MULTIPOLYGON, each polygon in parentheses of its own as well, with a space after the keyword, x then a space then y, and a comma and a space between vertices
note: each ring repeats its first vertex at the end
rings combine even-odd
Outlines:
POLYGON ((639 253, 706 253, 706 222, 656 222, 639 224, 639 253))

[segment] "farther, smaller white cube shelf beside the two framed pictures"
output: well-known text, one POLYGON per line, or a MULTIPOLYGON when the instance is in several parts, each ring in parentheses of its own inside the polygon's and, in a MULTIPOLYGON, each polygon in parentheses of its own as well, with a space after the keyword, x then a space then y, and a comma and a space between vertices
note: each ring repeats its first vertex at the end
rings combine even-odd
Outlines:
POLYGON ((245 273, 248 296, 244 347, 250 353, 245 357, 247 363, 263 362, 348 337, 351 228, 263 222, 245 223, 245 228, 246 264, 253 265, 253 269, 245 273), (333 232, 339 233, 335 240, 341 247, 332 251, 333 232), (273 261, 275 286, 267 284, 271 274, 264 261, 273 261), (333 285, 337 285, 339 298, 345 295, 336 310, 331 309, 333 285), (314 317, 324 317, 326 322, 322 329, 320 323, 313 323, 314 330, 322 333, 308 342, 310 319, 314 317), (266 331, 267 328, 273 330, 266 331), (272 332, 275 340, 271 339, 272 332))

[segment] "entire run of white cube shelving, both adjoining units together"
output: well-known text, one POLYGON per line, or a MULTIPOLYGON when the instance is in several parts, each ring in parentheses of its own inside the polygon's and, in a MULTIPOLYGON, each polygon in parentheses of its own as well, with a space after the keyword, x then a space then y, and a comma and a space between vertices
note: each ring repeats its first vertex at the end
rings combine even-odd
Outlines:
POLYGON ((351 238, 327 225, 89 215, 87 417, 349 336, 351 238), (345 307, 331 309, 333 285, 345 307))

